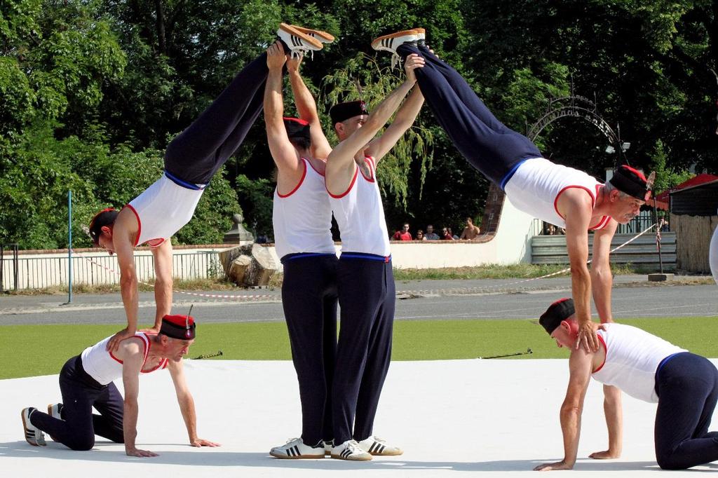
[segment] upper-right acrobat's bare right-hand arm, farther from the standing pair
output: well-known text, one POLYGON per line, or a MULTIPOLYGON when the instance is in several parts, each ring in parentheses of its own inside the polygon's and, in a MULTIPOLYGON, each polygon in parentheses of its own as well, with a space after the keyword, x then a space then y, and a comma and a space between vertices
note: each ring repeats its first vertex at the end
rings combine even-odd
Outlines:
POLYGON ((611 240, 616 232, 618 223, 610 220, 606 227, 597 230, 593 235, 593 261, 591 263, 591 288, 593 302, 596 304, 598 317, 601 323, 613 322, 611 314, 611 274, 610 250, 611 240))

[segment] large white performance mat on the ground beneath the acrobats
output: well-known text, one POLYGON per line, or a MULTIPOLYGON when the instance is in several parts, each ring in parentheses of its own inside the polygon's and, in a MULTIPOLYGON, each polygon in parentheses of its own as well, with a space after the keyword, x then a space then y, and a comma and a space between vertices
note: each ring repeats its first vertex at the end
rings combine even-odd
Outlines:
MULTIPOLYGON (((58 364, 58 370, 62 364, 58 364)), ((297 379, 291 362, 188 360, 200 438, 216 449, 187 445, 168 372, 141 378, 137 446, 159 453, 132 458, 98 437, 91 451, 70 451, 47 437, 24 441, 20 411, 60 401, 57 375, 0 380, 2 477, 513 477, 533 476, 544 461, 563 458, 559 407, 567 360, 393 362, 375 434, 403 456, 361 463, 336 459, 279 460, 272 446, 299 436, 297 379)), ((623 457, 588 459, 607 447, 602 388, 592 383, 583 413, 579 460, 562 476, 657 476, 653 452, 656 406, 623 395, 623 457)), ((714 417, 715 421, 715 417, 714 417)), ((718 429, 718 422, 712 427, 718 429)), ((718 464, 694 470, 718 471, 718 464)), ((665 472, 696 476, 696 471, 665 472)))

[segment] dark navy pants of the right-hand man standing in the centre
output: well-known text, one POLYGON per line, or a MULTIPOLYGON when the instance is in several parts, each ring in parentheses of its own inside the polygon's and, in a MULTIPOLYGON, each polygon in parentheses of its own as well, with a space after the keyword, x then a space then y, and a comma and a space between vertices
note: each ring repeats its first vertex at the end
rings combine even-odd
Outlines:
POLYGON ((367 439, 373 432, 391 361, 396 301, 391 261, 370 254, 342 253, 337 289, 340 328, 332 405, 334 441, 342 444, 352 438, 367 439))

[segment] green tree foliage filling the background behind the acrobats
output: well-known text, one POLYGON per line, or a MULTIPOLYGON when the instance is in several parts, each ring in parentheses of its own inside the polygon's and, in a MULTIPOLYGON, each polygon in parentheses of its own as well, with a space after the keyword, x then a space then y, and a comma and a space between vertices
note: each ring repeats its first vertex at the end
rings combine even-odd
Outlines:
MULTIPOLYGON (((439 56, 517 131, 544 114, 549 98, 572 92, 595 98, 597 113, 631 143, 631 164, 655 164, 661 184, 693 165, 718 172, 713 0, 0 0, 0 238, 62 245, 70 187, 78 225, 139 194, 157 179, 168 139, 282 21, 337 37, 302 67, 326 131, 335 100, 376 104, 400 80, 370 40, 424 27, 439 56)), ((285 100, 291 111, 291 95, 285 100)), ((617 160, 597 128, 576 119, 555 121, 537 143, 592 174, 617 160)), ((270 233, 271 174, 258 121, 177 240, 217 242, 237 201, 250 229, 270 233)), ((378 176, 390 228, 411 220, 458 231, 462 217, 480 217, 488 189, 428 108, 378 176)))

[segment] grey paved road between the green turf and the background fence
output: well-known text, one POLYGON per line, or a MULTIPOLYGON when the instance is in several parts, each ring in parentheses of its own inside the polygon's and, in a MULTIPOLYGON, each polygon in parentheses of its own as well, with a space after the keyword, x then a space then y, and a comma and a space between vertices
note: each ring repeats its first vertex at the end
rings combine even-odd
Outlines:
MULTIPOLYGON (((406 281, 397 286, 396 319, 533 318, 555 299, 570 295, 567 277, 535 281, 406 281)), ((208 293, 213 294, 213 293, 208 293)), ((216 292, 234 299, 174 295, 174 312, 202 322, 274 322, 284 320, 279 290, 216 292)), ((0 296, 0 324, 119 324, 119 294, 0 296)), ((615 318, 718 317, 718 289, 712 285, 656 285, 645 276, 617 276, 612 291, 615 318)), ((140 322, 154 320, 154 297, 140 294, 140 322)))

